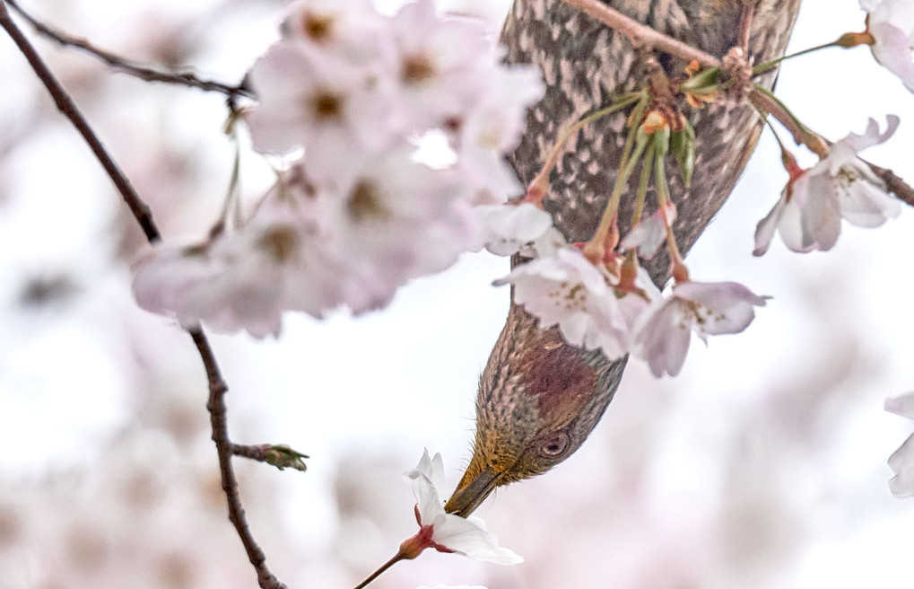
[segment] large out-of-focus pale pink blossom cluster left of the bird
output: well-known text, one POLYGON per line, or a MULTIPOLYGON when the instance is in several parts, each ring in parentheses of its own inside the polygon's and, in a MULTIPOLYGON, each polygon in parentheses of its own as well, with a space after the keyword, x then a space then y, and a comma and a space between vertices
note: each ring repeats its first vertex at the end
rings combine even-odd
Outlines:
POLYGON ((515 214, 540 226, 548 215, 503 205, 523 193, 504 154, 543 84, 499 57, 481 23, 441 16, 432 0, 393 16, 370 0, 292 5, 250 70, 257 102, 244 118, 281 168, 275 187, 234 230, 141 256, 139 304, 265 337, 283 311, 381 308, 462 252, 525 240, 515 214), (420 161, 430 134, 445 138, 450 163, 420 161))

